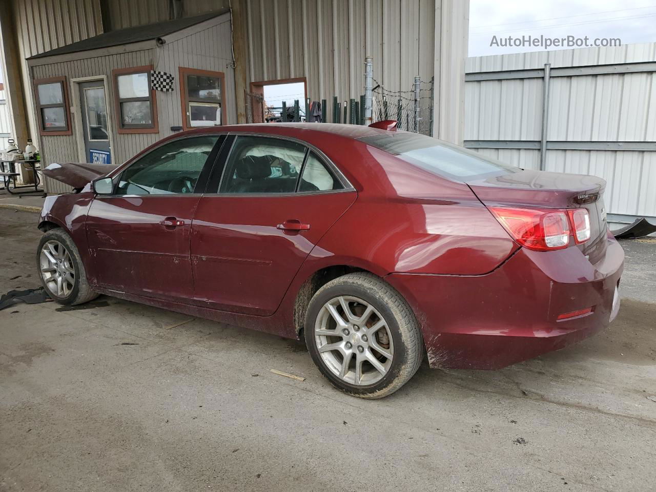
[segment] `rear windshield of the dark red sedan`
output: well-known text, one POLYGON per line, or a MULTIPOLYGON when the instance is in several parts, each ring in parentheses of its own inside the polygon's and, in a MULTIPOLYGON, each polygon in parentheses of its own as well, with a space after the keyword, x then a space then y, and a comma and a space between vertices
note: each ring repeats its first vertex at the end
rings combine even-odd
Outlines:
POLYGON ((419 133, 386 133, 364 136, 360 140, 426 171, 457 181, 521 171, 478 152, 419 133))

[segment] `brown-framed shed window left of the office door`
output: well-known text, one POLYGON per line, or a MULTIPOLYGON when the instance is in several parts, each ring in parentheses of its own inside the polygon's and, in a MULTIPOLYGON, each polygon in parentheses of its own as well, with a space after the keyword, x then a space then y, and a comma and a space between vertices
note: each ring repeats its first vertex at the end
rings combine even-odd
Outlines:
POLYGON ((66 77, 37 79, 34 81, 34 92, 41 134, 72 134, 66 77))

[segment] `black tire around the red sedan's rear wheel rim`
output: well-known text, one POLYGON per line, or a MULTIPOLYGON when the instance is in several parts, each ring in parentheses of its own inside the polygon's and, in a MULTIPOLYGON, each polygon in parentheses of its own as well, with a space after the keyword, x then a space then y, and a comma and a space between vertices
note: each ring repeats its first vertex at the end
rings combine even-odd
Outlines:
MULTIPOLYGON (((355 324, 352 327, 361 329, 355 324)), ((405 299, 391 285, 379 277, 365 272, 347 274, 323 285, 308 305, 304 333, 310 356, 319 367, 321 374, 336 388, 359 398, 384 398, 394 393, 415 375, 424 354, 419 323, 405 299), (322 316, 321 312, 325 304, 333 302, 338 297, 359 298, 367 302, 384 318, 388 335, 392 337, 391 364, 382 379, 373 384, 352 384, 340 379, 340 376, 333 372, 319 352, 315 337, 315 327, 321 325, 321 319, 318 317, 322 316)), ((326 340, 328 338, 337 339, 339 342, 337 337, 326 337, 326 340)), ((376 354, 375 351, 371 353, 376 354)), ((384 357, 382 359, 387 360, 384 357)), ((342 367, 346 367, 343 360, 342 358, 342 367)))

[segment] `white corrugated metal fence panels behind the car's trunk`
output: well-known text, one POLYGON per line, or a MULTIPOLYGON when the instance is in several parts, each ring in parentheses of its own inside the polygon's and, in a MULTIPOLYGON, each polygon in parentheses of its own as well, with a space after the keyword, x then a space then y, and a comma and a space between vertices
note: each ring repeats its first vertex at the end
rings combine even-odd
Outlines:
MULTIPOLYGON (((656 43, 480 56, 466 73, 508 72, 656 61, 656 43)), ((548 141, 651 142, 653 150, 546 151, 546 171, 594 174, 607 182, 615 220, 656 216, 656 72, 550 78, 548 141)), ((540 140, 543 79, 466 81, 465 141, 540 140)), ((651 147, 650 144, 650 147, 651 147)), ((539 169, 540 151, 477 148, 502 161, 539 169)))

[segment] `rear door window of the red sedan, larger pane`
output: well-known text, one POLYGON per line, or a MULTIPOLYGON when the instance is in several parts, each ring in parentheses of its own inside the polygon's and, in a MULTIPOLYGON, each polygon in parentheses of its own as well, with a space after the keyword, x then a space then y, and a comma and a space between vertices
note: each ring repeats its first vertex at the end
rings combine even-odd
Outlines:
POLYGON ((237 136, 226 162, 220 193, 294 193, 306 148, 297 142, 237 136))

